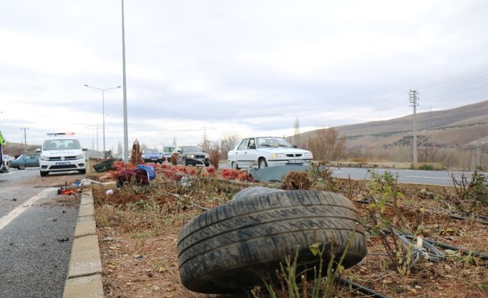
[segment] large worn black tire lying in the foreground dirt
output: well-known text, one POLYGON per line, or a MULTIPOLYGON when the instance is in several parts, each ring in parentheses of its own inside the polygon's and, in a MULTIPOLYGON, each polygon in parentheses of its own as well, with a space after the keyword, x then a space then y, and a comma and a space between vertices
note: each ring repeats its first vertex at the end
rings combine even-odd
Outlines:
MULTIPOLYGON (((297 190, 239 198, 189 221, 178 237, 180 279, 195 292, 223 293, 274 277, 285 256, 299 249, 300 270, 317 265, 310 245, 330 241, 339 259, 356 229, 343 262, 354 266, 366 255, 366 237, 353 203, 340 194, 297 190)), ((309 270, 313 274, 313 270, 309 270)))

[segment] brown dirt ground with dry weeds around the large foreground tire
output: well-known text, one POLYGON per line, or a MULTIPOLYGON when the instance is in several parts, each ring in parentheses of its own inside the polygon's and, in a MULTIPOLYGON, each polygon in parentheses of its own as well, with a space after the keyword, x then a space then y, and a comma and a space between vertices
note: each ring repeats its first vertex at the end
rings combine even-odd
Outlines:
MULTIPOLYGON (((161 180, 149 189, 113 189, 113 195, 106 194, 107 187, 95 187, 93 194, 105 296, 253 297, 250 292, 205 295, 187 290, 180 283, 176 254, 181 227, 202 212, 196 205, 214 207, 225 203, 243 187, 234 183, 225 186, 221 182, 209 186, 207 180, 205 186, 185 191, 178 183, 161 180), (171 195, 173 193, 187 197, 189 201, 181 203, 171 195)), ((368 218, 369 205, 362 202, 368 191, 356 191, 353 201, 359 202, 355 207, 362 218, 368 218)), ((350 189, 344 187, 341 192, 350 192, 350 189)), ((396 218, 394 221, 400 221, 404 227, 426 239, 488 254, 487 225, 472 218, 464 221, 450 218, 444 209, 456 207, 456 202, 446 201, 443 196, 425 196, 425 193, 425 189, 405 190, 399 199, 402 218, 396 218, 397 213, 391 205, 385 207, 384 215, 396 218)), ((487 214, 487 210, 486 206, 477 207, 478 214, 487 214)), ((392 239, 389 237, 387 240, 392 239)), ((488 297, 488 261, 444 251, 447 256, 444 261, 431 263, 420 259, 410 272, 400 274, 393 261, 384 255, 385 252, 380 237, 371 236, 368 255, 346 270, 343 277, 386 297, 488 297)), ((268 297, 264 289, 258 296, 268 297)), ((367 295, 336 285, 332 297, 367 295)))

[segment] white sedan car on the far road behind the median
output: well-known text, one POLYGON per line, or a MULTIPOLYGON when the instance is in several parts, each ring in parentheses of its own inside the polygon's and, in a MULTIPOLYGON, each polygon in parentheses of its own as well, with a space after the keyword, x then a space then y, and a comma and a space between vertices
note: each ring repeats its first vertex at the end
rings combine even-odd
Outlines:
POLYGON ((275 165, 301 165, 313 160, 312 153, 297 149, 284 138, 245 138, 229 151, 232 169, 245 167, 272 167, 275 165))

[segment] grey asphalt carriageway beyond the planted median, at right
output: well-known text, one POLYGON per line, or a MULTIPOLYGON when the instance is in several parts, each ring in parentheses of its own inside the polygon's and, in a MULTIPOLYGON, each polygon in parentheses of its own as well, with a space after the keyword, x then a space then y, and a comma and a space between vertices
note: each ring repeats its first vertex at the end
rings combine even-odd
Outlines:
MULTIPOLYGON (((220 169, 229 169, 228 163, 220 163, 218 165, 220 169)), ((331 167, 333 176, 337 178, 348 178, 356 180, 370 180, 370 174, 366 168, 357 167, 331 167)), ((385 171, 390 171, 393 175, 398 176, 398 182, 400 183, 417 183, 424 185, 442 185, 453 186, 453 180, 451 174, 454 174, 456 180, 461 180, 463 172, 460 171, 421 171, 416 169, 373 169, 378 174, 383 174, 385 171)), ((464 175, 471 181, 472 172, 466 171, 464 175)), ((485 176, 488 173, 484 173, 485 176)))

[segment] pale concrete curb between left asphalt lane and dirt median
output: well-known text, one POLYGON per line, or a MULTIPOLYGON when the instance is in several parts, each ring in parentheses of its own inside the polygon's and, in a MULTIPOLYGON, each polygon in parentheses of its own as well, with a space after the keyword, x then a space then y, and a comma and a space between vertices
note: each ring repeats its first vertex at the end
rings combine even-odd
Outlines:
POLYGON ((95 208, 91 189, 83 189, 79 204, 75 241, 71 249, 64 298, 103 298, 102 261, 95 225, 95 208))

